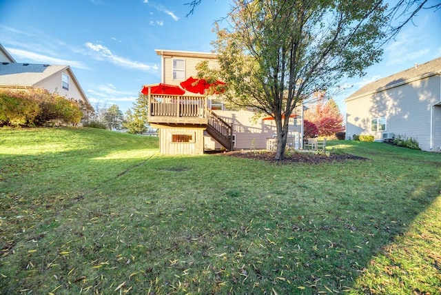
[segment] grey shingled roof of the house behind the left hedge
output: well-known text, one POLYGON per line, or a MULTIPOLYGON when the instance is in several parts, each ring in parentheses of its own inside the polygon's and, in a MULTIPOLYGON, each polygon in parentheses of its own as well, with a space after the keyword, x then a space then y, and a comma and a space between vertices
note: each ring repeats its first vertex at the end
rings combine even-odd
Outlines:
POLYGON ((0 63, 0 88, 35 88, 38 83, 59 72, 68 72, 85 103, 88 96, 81 88, 69 65, 48 65, 40 63, 0 63))

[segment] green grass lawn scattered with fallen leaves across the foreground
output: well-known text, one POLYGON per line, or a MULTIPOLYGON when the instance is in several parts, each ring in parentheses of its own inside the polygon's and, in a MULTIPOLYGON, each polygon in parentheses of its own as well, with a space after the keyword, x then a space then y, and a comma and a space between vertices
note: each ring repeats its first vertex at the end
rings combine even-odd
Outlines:
POLYGON ((327 148, 369 160, 0 130, 0 294, 441 294, 441 154, 327 148))

